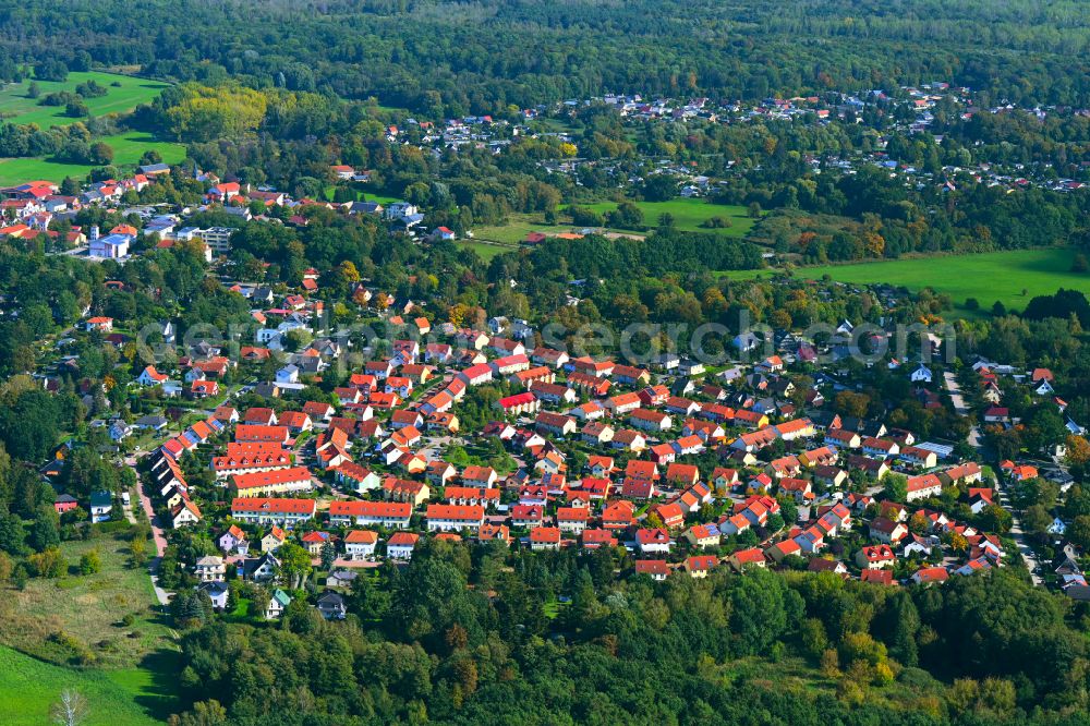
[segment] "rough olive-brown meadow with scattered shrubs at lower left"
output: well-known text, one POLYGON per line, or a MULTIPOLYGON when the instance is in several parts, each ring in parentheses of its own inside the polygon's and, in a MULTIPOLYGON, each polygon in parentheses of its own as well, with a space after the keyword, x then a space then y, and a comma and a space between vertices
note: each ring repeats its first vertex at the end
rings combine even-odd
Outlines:
POLYGON ((61 553, 65 574, 33 578, 24 590, 3 593, 0 644, 52 663, 111 668, 133 668, 175 648, 147 571, 128 566, 123 533, 63 542, 61 553), (81 574, 80 558, 92 549, 98 550, 101 569, 81 574))

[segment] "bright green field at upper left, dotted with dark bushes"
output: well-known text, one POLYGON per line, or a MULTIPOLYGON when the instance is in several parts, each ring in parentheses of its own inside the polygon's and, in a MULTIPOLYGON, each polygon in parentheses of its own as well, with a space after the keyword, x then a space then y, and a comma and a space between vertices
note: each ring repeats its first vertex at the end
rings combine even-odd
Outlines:
POLYGON ((0 88, 0 113, 4 121, 11 123, 36 123, 43 129, 49 126, 65 126, 78 121, 64 113, 63 106, 39 106, 38 101, 51 93, 68 90, 75 93, 75 87, 87 81, 94 80, 106 87, 106 95, 98 98, 85 98, 84 104, 92 116, 106 116, 108 113, 124 113, 133 110, 141 104, 146 104, 159 95, 167 87, 166 83, 148 81, 146 78, 134 78, 130 75, 119 75, 117 73, 100 73, 97 71, 72 72, 69 73, 68 81, 38 81, 40 95, 38 98, 29 98, 27 89, 31 87, 31 80, 22 83, 10 83, 0 88), (118 83, 119 86, 110 84, 118 83))

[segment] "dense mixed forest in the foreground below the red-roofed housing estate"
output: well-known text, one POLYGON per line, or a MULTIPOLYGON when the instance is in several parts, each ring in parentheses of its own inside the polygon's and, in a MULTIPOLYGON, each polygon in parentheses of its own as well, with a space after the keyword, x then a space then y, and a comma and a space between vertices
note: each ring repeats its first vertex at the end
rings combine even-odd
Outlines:
POLYGON ((620 550, 432 543, 403 571, 359 578, 344 624, 301 603, 257 629, 192 609, 181 683, 196 705, 177 723, 1085 717, 1086 642, 1067 620, 1082 614, 1005 571, 900 590, 725 568, 654 583, 615 568, 631 571, 620 550), (570 604, 550 618, 544 603, 562 593, 570 604))

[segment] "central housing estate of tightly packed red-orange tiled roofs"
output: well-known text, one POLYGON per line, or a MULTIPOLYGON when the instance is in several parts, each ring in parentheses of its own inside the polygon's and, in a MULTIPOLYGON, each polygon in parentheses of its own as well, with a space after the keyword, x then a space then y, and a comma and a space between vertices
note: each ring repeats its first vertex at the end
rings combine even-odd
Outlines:
MULTIPOLYGON (((239 292, 300 313, 304 326, 318 304, 306 289, 282 299, 239 292)), ((148 366, 134 382, 161 389, 177 376, 209 407, 144 460, 143 487, 160 524, 215 534, 220 554, 191 567, 217 607, 233 570, 272 589, 269 617, 282 612, 290 597, 277 552, 286 542, 330 566, 315 602, 330 618, 344 616, 338 589, 360 568, 408 561, 428 537, 541 552, 623 547, 631 572, 653 579, 794 567, 884 585, 940 583, 1013 555, 984 524, 1000 504, 989 468, 881 419, 836 414, 825 383, 796 390, 789 370, 806 363, 797 347, 751 365, 704 370, 663 356, 639 367, 529 348, 522 320, 433 329, 411 304, 384 316, 403 337, 322 400, 303 395, 314 390, 306 384, 344 351, 320 336, 287 356, 244 347, 241 361, 202 343, 177 372, 148 366), (282 366, 254 390, 275 406, 239 410, 214 386, 274 355, 282 366), (497 386, 505 395, 491 423, 463 429, 460 404, 497 386), (471 441, 511 465, 446 460, 453 446, 474 450, 471 441), (193 461, 210 485, 190 486, 193 461)), ((267 342, 277 339, 269 330, 267 342)), ((940 396, 927 365, 897 374, 922 401, 940 396)), ((168 431, 149 419, 141 425, 168 431)), ((1000 473, 1030 475, 1013 463, 1000 473)))

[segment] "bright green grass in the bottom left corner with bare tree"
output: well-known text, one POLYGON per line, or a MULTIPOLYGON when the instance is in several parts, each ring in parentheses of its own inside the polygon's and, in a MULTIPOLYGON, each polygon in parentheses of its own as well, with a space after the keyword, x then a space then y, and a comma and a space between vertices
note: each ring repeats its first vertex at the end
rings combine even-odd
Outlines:
POLYGON ((165 682, 166 669, 104 670, 50 665, 0 645, 0 724, 40 726, 64 689, 77 691, 87 703, 84 726, 150 726, 166 721, 178 703, 165 682))

